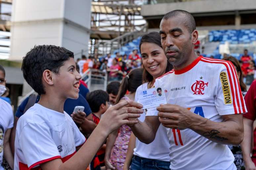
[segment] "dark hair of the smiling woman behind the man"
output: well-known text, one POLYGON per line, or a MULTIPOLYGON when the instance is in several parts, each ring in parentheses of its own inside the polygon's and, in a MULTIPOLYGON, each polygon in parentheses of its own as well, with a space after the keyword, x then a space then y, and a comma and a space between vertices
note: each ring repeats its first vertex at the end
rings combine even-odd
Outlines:
MULTIPOLYGON (((163 48, 161 45, 161 36, 157 32, 151 32, 151 33, 145 34, 141 37, 140 51, 141 51, 141 45, 144 42, 154 43, 154 44, 158 45, 159 47, 163 48)), ((172 64, 169 63, 169 61, 167 61, 165 73, 167 73, 168 71, 170 71, 172 69, 173 69, 172 64)), ((151 74, 149 74, 149 72, 145 68, 143 68, 143 81, 144 82, 153 81, 153 76, 151 74)))

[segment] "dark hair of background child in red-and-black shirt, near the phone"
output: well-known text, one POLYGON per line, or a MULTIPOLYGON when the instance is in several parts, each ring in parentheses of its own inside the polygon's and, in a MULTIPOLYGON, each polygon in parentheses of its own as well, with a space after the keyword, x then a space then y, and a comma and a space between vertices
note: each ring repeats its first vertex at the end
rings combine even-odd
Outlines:
POLYGON ((101 104, 106 105, 106 102, 109 101, 109 96, 106 91, 103 90, 95 90, 89 92, 86 95, 86 100, 89 103, 89 106, 92 112, 98 112, 100 110, 101 104))

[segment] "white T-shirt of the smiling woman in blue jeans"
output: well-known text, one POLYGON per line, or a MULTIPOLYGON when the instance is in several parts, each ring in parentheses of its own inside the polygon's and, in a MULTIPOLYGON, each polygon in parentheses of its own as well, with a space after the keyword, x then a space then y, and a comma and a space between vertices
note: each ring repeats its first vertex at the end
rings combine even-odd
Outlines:
MULTIPOLYGON (((137 88, 135 93, 135 102, 139 102, 137 91, 144 90, 144 89, 148 89, 148 83, 144 83, 143 85, 140 85, 137 88)), ((141 114, 141 117, 139 117, 139 120, 143 122, 145 120, 145 117, 146 117, 146 114, 144 110, 144 113, 141 114)), ((160 124, 156 132, 155 139, 150 144, 145 144, 136 137, 136 145, 135 145, 133 154, 141 158, 170 161, 169 148, 170 148, 170 144, 167 137, 167 129, 160 124)))

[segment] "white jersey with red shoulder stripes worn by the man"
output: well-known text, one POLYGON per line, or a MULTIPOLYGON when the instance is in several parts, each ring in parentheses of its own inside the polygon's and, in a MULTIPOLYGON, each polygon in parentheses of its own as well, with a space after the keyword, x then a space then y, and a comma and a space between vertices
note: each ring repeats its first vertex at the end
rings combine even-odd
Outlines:
MULTIPOLYGON (((171 70, 156 79, 168 104, 189 109, 215 122, 222 115, 247 112, 234 66, 229 61, 198 57, 182 70, 171 70)), ((157 115, 149 108, 147 116, 157 115)), ((170 169, 236 169, 227 145, 215 143, 190 129, 168 128, 170 169)))

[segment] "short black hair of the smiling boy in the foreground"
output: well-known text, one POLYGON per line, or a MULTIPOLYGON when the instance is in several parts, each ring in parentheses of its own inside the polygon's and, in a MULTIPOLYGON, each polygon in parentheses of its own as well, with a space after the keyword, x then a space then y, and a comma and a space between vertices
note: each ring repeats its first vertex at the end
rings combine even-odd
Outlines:
POLYGON ((74 58, 73 52, 55 45, 38 45, 23 57, 21 70, 26 82, 39 94, 45 94, 42 84, 44 70, 59 73, 64 62, 74 58))

